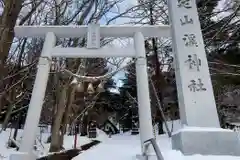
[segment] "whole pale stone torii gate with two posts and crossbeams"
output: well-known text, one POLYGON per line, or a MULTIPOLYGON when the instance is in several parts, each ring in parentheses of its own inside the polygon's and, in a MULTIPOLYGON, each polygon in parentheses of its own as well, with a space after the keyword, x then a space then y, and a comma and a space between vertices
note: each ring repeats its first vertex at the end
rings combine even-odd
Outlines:
POLYGON ((135 57, 137 59, 137 84, 140 86, 137 88, 138 110, 142 152, 144 152, 145 141, 154 138, 144 37, 169 37, 169 26, 17 26, 15 27, 15 34, 17 37, 45 37, 45 42, 39 59, 36 80, 19 149, 21 154, 12 155, 12 159, 15 159, 15 157, 19 159, 20 156, 25 160, 34 159, 31 152, 42 110, 52 57, 135 57), (87 48, 62 48, 55 46, 56 37, 78 38, 86 35, 88 35, 87 48), (133 37, 134 48, 100 48, 100 37, 133 37))

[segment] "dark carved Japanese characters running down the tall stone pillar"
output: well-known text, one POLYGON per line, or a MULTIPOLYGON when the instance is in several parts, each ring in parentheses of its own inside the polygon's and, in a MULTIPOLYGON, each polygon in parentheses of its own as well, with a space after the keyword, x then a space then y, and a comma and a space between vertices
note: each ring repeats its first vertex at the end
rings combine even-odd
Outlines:
MULTIPOLYGON (((182 12, 184 12, 184 10, 192 9, 191 0, 177 0, 177 3, 177 7, 179 9, 183 9, 182 12)), ((190 15, 184 14, 184 16, 180 18, 180 25, 181 27, 187 25, 194 25, 194 19, 190 15)), ((189 47, 198 47, 199 45, 197 39, 198 37, 196 37, 194 33, 183 33, 182 40, 184 42, 186 50, 188 50, 189 47)), ((187 53, 186 57, 187 59, 184 63, 187 65, 188 69, 200 72, 200 67, 202 66, 202 63, 198 55, 195 53, 187 53)), ((202 92, 207 90, 206 88, 204 88, 204 83, 202 82, 201 78, 197 78, 197 80, 190 80, 188 88, 190 92, 202 92)))

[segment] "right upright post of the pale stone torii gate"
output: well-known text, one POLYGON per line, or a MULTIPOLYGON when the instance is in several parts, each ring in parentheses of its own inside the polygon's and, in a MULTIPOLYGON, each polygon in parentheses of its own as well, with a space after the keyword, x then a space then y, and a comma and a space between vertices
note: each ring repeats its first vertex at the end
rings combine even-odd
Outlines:
POLYGON ((136 78, 137 78, 137 97, 138 97, 138 114, 140 139, 142 145, 142 153, 151 155, 153 148, 149 147, 145 151, 145 142, 154 138, 152 115, 150 106, 150 94, 148 85, 147 61, 144 47, 144 37, 141 32, 134 35, 134 47, 136 51, 136 78), (146 153, 145 153, 146 152, 146 153))

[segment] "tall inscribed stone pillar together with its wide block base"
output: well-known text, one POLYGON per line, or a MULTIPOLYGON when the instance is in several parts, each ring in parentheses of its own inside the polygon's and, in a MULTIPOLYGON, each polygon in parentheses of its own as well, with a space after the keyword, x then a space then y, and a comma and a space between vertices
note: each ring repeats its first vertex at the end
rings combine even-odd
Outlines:
POLYGON ((169 0, 168 6, 180 118, 188 127, 173 135, 173 148, 184 154, 239 154, 236 134, 220 129, 196 1, 169 0))

